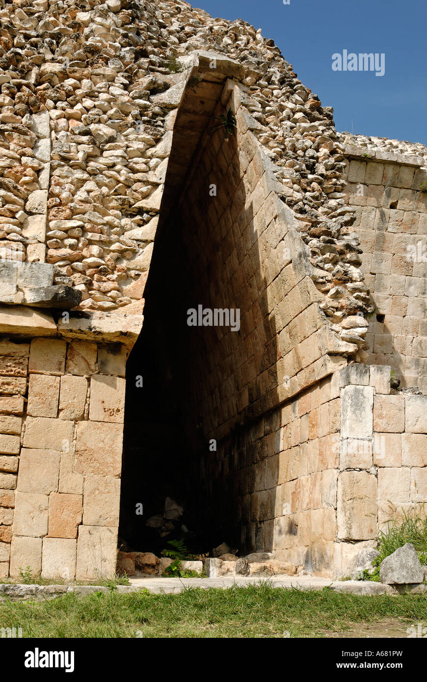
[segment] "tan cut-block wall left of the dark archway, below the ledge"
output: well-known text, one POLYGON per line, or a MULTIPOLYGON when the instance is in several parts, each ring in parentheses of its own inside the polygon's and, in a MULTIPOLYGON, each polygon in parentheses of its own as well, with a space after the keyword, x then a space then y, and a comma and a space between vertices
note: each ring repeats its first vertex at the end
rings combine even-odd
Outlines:
POLYGON ((126 357, 114 343, 0 341, 2 576, 115 573, 126 357))

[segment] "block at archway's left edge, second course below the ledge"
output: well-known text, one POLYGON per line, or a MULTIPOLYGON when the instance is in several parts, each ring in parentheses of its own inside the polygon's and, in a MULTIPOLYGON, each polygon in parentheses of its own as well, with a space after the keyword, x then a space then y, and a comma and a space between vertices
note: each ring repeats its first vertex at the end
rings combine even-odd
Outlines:
POLYGON ((93 374, 89 419, 123 424, 126 382, 119 376, 93 374))

